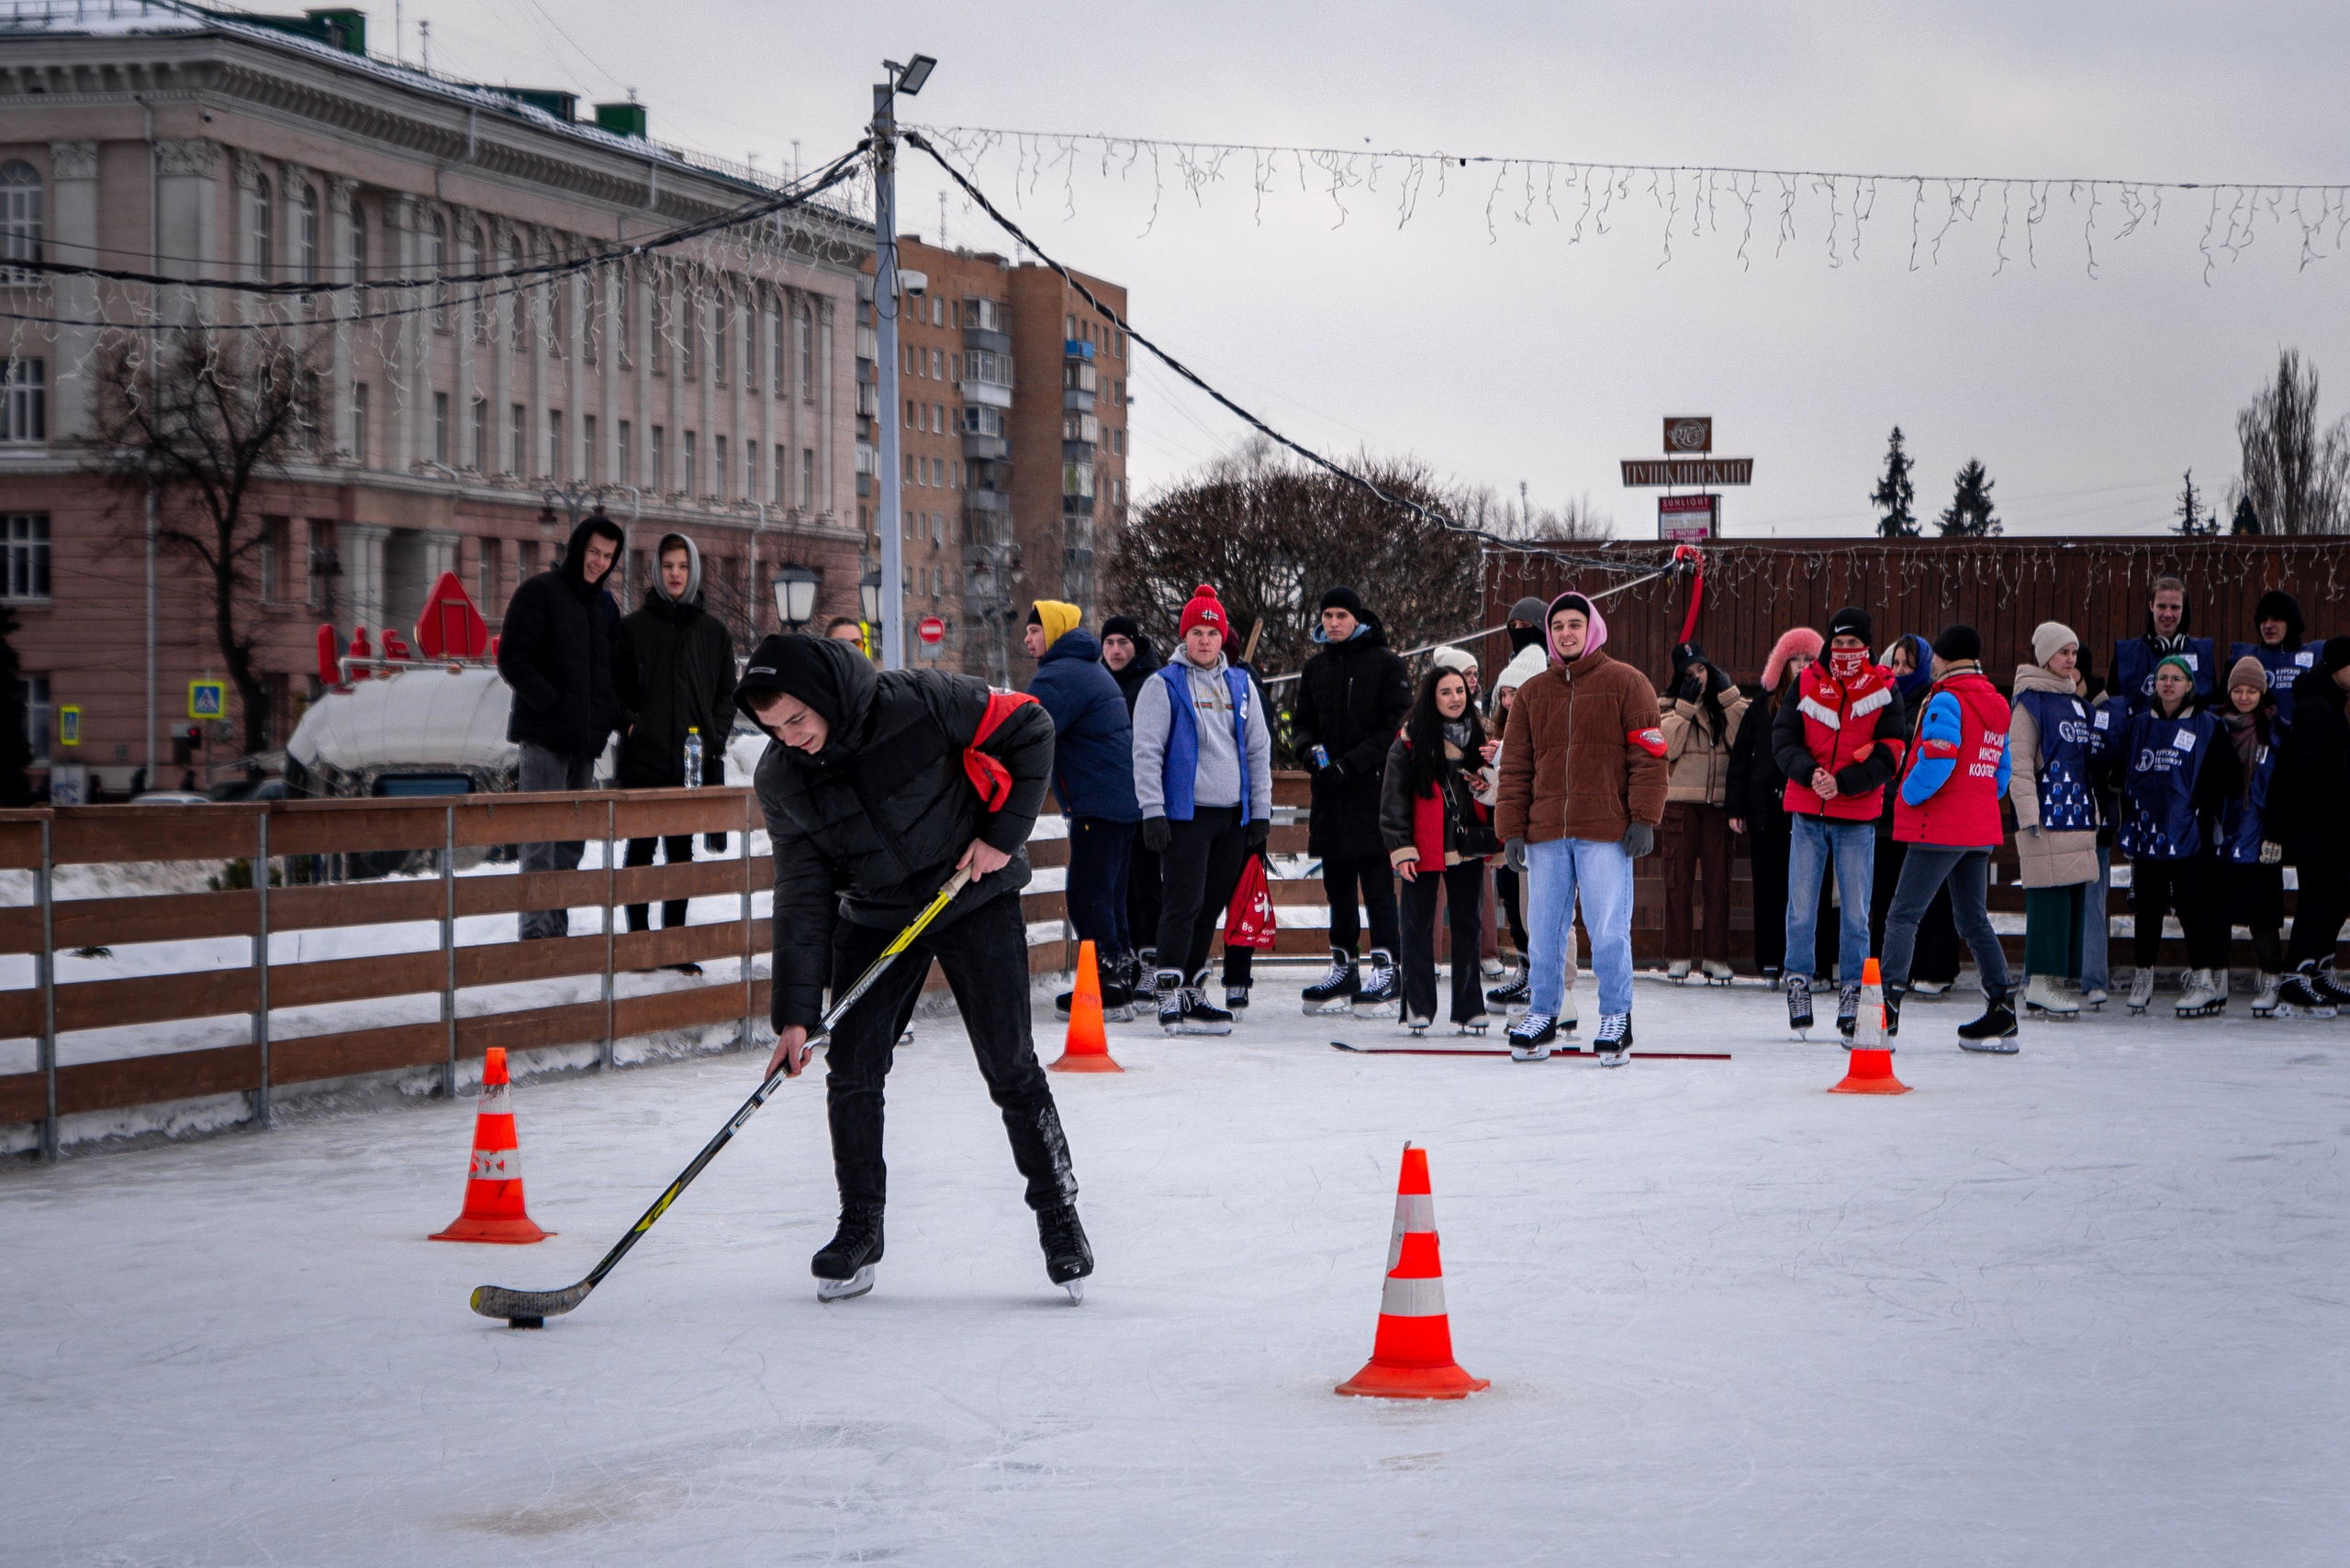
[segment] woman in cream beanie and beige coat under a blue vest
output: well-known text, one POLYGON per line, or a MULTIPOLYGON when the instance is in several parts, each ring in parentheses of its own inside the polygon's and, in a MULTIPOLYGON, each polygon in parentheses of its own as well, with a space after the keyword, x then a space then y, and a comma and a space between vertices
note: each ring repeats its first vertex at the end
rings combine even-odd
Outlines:
POLYGON ((2080 638, 2054 620, 2033 629, 2037 664, 2016 664, 2007 723, 2016 807, 2016 859, 2023 869, 2023 1007, 2042 1019, 2077 1019, 2080 1000, 2059 981, 2080 979, 2080 948, 2096 887, 2096 791, 2089 768, 2106 732, 2080 699, 2080 638))

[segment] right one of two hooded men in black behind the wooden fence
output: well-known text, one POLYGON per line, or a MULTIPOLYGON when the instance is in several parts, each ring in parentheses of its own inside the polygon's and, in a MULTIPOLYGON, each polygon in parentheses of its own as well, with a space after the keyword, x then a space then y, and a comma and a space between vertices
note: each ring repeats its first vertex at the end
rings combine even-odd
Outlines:
MULTIPOLYGON (((627 695, 634 723, 620 737, 616 784, 620 789, 682 789, 686 784, 726 782, 726 737, 733 732, 733 638, 726 622, 703 610, 703 552, 684 533, 660 535, 653 552, 653 580, 644 589, 644 608, 620 622, 630 664, 637 676, 627 695), (686 732, 703 742, 703 772, 686 779, 686 732)), ((710 852, 726 852, 726 836, 710 836, 710 852)), ((651 838, 627 840, 627 864, 653 864, 651 838)), ((658 840, 672 866, 693 859, 693 833, 670 833, 658 840)), ((627 906, 627 930, 649 927, 651 908, 627 906)), ((686 922, 686 901, 660 906, 663 930, 686 922)), ((700 974, 696 962, 672 969, 700 974)))

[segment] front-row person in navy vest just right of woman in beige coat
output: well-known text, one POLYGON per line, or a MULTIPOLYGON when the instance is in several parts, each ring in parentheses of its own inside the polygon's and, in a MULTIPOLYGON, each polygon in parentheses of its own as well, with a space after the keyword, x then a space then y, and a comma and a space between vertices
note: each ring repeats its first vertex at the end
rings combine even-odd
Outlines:
POLYGON ((2122 770, 2122 852, 2129 854, 2129 906, 2136 913, 2136 965, 2129 1012, 2155 998, 2162 915, 2178 913, 2188 937, 2188 974, 2178 1016, 2197 1019, 2228 1005, 2228 913, 2218 897, 2218 815, 2242 786, 2235 746, 2218 718, 2195 702, 2195 671, 2167 653, 2155 667, 2155 697, 2129 716, 2117 744, 2122 770))

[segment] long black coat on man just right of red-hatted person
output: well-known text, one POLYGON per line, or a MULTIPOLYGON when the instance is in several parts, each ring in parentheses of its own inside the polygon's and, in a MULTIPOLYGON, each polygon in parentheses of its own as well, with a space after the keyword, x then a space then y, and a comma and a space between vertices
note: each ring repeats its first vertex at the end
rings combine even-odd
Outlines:
POLYGON ((1307 660, 1297 676, 1297 704, 1290 709, 1290 749, 1300 758, 1314 746, 1330 753, 1330 768, 1314 775, 1307 854, 1386 857, 1379 779, 1386 772, 1386 749, 1396 744, 1410 711, 1412 678, 1389 650, 1377 617, 1365 615, 1361 631, 1307 660))

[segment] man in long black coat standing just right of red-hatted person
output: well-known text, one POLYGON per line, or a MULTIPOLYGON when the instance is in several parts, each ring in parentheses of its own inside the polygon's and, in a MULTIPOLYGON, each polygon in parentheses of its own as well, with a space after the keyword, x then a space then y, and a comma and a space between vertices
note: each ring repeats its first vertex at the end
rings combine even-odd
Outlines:
POLYGON ((1386 749, 1412 711, 1412 678, 1386 648, 1386 631, 1351 587, 1321 596, 1323 650, 1297 676, 1290 749, 1314 777, 1307 854, 1321 854, 1330 894, 1330 972, 1307 986, 1307 1012, 1344 1002, 1384 1007, 1396 986, 1396 871, 1379 838, 1379 777, 1386 749), (1370 913, 1370 984, 1356 976, 1361 887, 1370 913))

